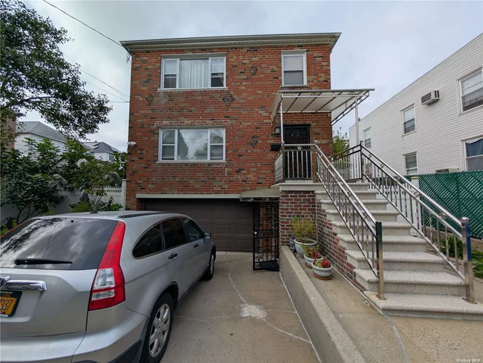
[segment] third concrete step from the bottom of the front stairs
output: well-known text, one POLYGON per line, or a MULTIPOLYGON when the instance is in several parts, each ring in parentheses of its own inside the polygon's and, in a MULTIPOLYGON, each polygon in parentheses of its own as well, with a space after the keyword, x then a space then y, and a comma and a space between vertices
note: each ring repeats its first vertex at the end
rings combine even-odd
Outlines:
MULTIPOLYGON (((372 256, 372 251, 369 252, 372 256)), ((357 249, 346 251, 347 262, 355 269, 369 269, 364 254, 357 249)), ((444 271, 442 258, 425 252, 384 252, 384 271, 444 271)))

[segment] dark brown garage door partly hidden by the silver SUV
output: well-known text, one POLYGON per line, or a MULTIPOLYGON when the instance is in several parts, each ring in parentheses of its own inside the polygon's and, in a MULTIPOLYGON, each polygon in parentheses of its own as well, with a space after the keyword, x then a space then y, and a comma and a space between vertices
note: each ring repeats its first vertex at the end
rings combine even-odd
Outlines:
POLYGON ((237 199, 145 199, 146 211, 186 214, 213 234, 218 251, 253 250, 253 204, 237 199))

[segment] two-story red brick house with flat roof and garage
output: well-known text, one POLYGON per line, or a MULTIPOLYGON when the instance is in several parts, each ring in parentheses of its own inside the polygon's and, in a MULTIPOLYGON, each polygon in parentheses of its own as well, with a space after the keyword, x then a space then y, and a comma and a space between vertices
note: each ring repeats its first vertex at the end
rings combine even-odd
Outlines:
POLYGON ((252 251, 260 211, 245 200, 278 200, 270 187, 281 136, 286 144, 317 141, 331 154, 331 110, 344 116, 353 107, 352 96, 332 97, 347 90, 329 91, 339 35, 121 42, 132 54, 129 141, 136 143, 128 148, 127 209, 189 214, 219 249, 252 251), (283 114, 281 131, 277 100, 287 90, 306 98, 283 114), (327 90, 327 98, 311 98, 313 90, 327 90))

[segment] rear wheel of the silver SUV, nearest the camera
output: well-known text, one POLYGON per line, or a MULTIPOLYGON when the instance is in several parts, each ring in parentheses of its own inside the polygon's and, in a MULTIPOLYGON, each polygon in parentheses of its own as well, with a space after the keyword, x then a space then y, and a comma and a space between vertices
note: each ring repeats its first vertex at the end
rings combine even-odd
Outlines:
POLYGON ((175 316, 174 309, 175 304, 169 293, 164 293, 157 300, 155 307, 151 311, 148 329, 144 337, 143 352, 139 362, 158 363, 163 357, 171 335, 172 322, 175 316), (159 348, 159 344, 162 344, 161 348, 159 348))

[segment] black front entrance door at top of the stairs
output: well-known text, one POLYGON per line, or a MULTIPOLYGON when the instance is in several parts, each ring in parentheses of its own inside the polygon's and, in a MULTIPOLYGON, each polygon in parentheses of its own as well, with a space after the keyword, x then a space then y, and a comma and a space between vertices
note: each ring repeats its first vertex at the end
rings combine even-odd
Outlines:
POLYGON ((284 126, 285 178, 311 179, 312 154, 310 146, 290 146, 311 143, 309 125, 284 126))

